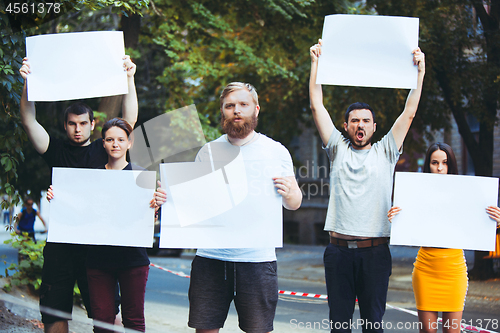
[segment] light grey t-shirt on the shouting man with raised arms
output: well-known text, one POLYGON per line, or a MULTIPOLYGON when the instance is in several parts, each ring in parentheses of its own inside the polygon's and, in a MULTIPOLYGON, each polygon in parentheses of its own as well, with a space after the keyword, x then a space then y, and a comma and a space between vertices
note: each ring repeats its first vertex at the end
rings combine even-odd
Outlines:
POLYGON ((389 237, 394 168, 402 153, 392 131, 370 149, 356 150, 334 129, 324 147, 330 158, 325 229, 361 237, 389 237))

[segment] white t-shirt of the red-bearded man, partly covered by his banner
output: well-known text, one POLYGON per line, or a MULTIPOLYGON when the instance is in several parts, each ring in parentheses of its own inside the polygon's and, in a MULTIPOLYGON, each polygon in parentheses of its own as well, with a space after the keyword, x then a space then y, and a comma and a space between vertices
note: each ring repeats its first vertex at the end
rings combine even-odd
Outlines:
MULTIPOLYGON (((282 177, 294 176, 292 157, 288 150, 279 142, 268 138, 264 134, 257 133, 257 139, 248 145, 240 146, 243 160, 275 160, 279 161, 282 169, 282 177)), ((203 146, 196 161, 211 161, 211 151, 209 145, 217 143, 217 149, 233 151, 238 146, 233 146, 227 140, 227 135, 223 135, 217 140, 207 143, 203 146)), ((247 248, 247 249, 198 249, 197 256, 235 262, 265 262, 276 260, 276 251, 274 248, 247 248)))

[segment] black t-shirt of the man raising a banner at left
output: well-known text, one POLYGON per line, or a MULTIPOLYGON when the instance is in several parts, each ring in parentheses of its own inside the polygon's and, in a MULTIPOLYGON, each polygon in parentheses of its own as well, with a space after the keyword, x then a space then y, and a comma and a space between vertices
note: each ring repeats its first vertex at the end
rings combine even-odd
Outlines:
POLYGON ((50 168, 91 168, 96 169, 108 162, 108 154, 97 139, 87 146, 73 146, 68 140, 50 138, 49 148, 42 155, 50 168))

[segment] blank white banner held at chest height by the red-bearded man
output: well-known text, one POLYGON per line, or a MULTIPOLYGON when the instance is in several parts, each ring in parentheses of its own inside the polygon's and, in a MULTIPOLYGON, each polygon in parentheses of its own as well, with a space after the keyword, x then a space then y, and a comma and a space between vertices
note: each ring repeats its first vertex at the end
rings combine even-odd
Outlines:
POLYGON ((168 196, 160 247, 282 247, 282 198, 272 179, 281 174, 275 164, 244 161, 241 154, 214 171, 210 162, 160 164, 168 196))

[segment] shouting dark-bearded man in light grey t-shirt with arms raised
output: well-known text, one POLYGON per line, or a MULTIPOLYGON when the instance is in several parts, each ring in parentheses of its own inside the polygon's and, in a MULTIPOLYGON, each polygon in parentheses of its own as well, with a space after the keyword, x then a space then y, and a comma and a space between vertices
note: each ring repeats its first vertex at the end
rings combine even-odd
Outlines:
POLYGON ((391 275, 387 211, 391 207, 393 174, 403 141, 417 112, 425 74, 425 58, 413 51, 418 66, 417 88, 389 133, 377 143, 372 108, 354 103, 345 113, 345 138, 323 105, 321 85, 316 84, 321 40, 310 48, 311 110, 324 149, 330 158, 330 199, 325 231, 330 244, 324 264, 332 332, 351 332, 358 299, 363 332, 383 332, 387 288, 391 275))

